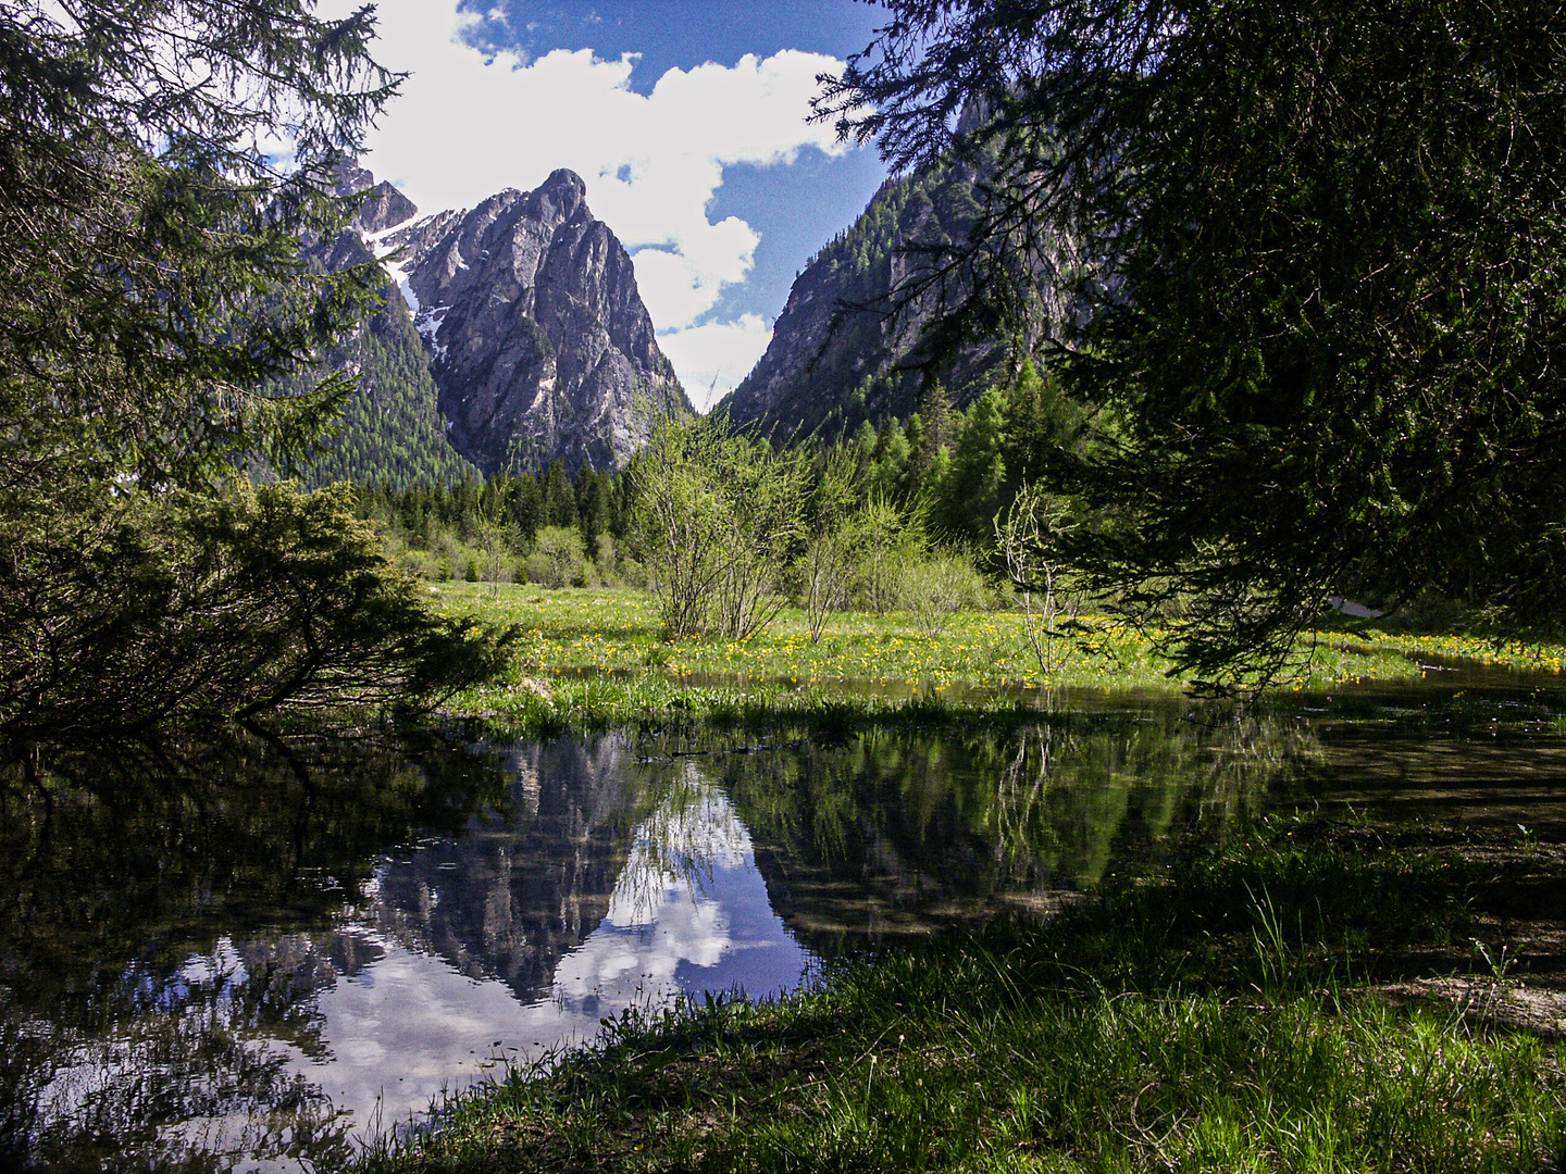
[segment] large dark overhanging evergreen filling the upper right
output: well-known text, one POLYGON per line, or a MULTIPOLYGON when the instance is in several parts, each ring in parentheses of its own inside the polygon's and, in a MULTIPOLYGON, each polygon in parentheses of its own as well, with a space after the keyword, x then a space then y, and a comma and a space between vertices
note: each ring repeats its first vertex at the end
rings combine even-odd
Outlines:
POLYGON ((888 8, 817 110, 998 161, 972 315, 1085 250, 1057 373, 1117 421, 1079 484, 1120 517, 1079 554, 1182 668, 1265 682, 1328 595, 1566 625, 1566 13, 888 8))

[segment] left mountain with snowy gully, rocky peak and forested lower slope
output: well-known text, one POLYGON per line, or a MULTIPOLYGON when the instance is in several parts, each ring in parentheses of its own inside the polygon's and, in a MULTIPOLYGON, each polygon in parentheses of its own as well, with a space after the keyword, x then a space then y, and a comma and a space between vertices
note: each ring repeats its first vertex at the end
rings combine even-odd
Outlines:
POLYGON ((337 193, 360 203, 307 254, 329 271, 379 261, 382 305, 324 360, 357 390, 307 485, 449 484, 556 459, 572 476, 623 470, 659 418, 692 412, 631 257, 575 172, 428 216, 357 163, 337 193))

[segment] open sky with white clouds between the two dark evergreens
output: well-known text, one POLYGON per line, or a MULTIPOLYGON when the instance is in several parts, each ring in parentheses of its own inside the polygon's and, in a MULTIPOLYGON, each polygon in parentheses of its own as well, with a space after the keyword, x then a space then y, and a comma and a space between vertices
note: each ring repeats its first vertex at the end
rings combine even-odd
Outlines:
POLYGON ((864 49, 855 0, 379 0, 381 59, 412 72, 365 164, 423 211, 554 167, 636 260, 698 407, 766 348, 796 272, 885 178, 808 124, 816 75, 864 49))

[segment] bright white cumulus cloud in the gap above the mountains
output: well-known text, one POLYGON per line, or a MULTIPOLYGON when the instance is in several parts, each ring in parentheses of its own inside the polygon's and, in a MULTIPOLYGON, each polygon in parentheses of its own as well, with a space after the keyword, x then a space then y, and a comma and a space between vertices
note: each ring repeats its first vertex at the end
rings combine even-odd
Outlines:
POLYGON ((844 150, 830 127, 805 122, 816 75, 841 63, 796 50, 747 55, 731 66, 672 69, 637 94, 633 56, 479 50, 464 34, 481 17, 459 13, 454 0, 381 0, 377 11, 379 59, 412 77, 371 133, 366 166, 424 211, 528 189, 556 167, 578 172, 594 214, 636 260, 642 299, 681 380, 705 388, 723 371, 722 390, 733 387, 749 369, 734 366, 747 354, 741 343, 755 349, 760 319, 703 318, 725 285, 745 280, 760 238, 734 216, 714 224, 708 207, 728 164, 844 150))

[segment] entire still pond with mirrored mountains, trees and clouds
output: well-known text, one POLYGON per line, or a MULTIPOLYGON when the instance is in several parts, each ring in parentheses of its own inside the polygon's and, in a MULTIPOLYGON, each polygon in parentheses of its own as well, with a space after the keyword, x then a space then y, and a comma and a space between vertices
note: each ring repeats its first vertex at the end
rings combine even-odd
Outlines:
POLYGON ((298 1171, 680 996, 1041 916, 1273 805, 1566 823, 1549 695, 940 729, 233 733, 8 770, 0 1168, 298 1171))

